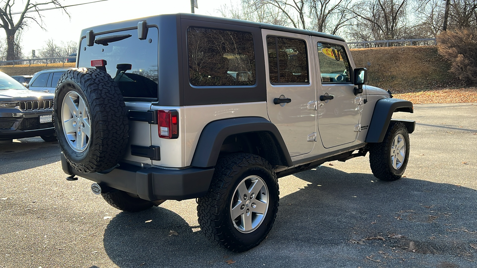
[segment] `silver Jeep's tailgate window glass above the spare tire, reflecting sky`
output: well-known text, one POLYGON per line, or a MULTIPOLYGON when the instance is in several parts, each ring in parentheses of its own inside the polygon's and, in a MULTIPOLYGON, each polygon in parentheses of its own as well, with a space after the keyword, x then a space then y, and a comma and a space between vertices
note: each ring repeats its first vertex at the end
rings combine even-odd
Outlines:
POLYGON ((147 38, 139 40, 137 30, 121 31, 97 35, 95 39, 112 35, 131 36, 120 41, 103 44, 86 45, 86 39, 81 41, 78 67, 91 67, 92 60, 106 60, 106 72, 117 83, 124 97, 157 99, 157 57, 158 30, 148 28, 147 38), (132 69, 120 71, 117 64, 131 64, 132 69))

